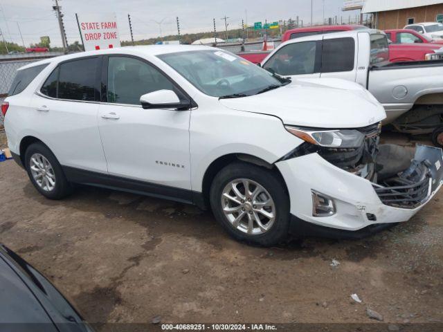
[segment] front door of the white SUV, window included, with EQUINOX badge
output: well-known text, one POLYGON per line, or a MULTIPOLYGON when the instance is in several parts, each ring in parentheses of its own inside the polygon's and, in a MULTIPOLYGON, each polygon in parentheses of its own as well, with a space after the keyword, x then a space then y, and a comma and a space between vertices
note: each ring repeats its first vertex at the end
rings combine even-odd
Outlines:
MULTIPOLYGON (((107 102, 100 104, 98 127, 112 176, 190 190, 190 111, 143 109, 140 97, 177 88, 143 59, 109 55, 104 59, 107 102)), ((166 195, 168 196, 168 195, 166 195)))

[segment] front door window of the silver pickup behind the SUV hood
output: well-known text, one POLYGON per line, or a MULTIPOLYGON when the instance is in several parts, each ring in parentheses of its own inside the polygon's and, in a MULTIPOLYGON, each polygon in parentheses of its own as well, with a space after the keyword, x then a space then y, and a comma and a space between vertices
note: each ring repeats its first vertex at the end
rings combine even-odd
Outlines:
POLYGON ((280 75, 318 73, 316 71, 316 45, 316 42, 301 42, 284 46, 264 64, 263 68, 271 69, 280 75))

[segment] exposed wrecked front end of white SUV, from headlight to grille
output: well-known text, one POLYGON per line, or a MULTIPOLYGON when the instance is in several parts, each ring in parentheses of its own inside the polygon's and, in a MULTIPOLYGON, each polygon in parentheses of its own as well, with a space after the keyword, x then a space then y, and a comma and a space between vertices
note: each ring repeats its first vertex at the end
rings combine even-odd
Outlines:
POLYGON ((442 183, 442 149, 425 145, 417 145, 415 149, 399 145, 379 145, 379 123, 346 131, 319 131, 296 127, 287 127, 287 130, 305 142, 282 160, 316 153, 332 165, 371 181, 374 191, 384 205, 404 209, 417 208, 425 203, 442 183), (338 134, 335 134, 336 138, 328 140, 318 135, 330 132, 353 134, 354 146, 339 145, 338 140, 341 136, 338 134), (356 132, 360 133, 360 140, 355 138, 356 132), (333 146, 334 139, 338 146, 333 146), (323 144, 325 142, 327 144, 323 144))

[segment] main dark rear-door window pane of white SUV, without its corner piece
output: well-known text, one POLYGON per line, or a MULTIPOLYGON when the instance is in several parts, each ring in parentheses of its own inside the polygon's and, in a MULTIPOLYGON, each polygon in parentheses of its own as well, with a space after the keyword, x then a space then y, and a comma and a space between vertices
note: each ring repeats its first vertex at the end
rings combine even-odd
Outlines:
POLYGON ((64 62, 60 65, 57 98, 69 100, 98 100, 96 73, 98 57, 64 62))

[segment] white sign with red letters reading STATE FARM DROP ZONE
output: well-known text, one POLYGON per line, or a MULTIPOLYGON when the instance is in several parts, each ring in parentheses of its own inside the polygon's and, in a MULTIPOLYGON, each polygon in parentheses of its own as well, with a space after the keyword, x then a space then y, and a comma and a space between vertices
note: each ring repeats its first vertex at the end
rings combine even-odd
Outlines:
POLYGON ((82 34, 84 50, 120 47, 115 13, 80 14, 78 26, 82 34))

